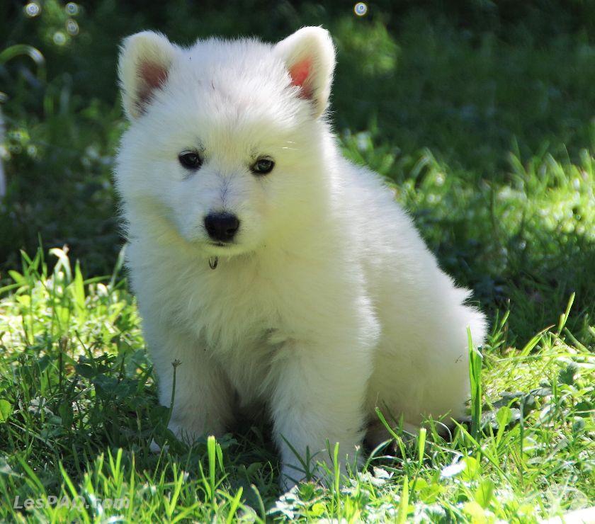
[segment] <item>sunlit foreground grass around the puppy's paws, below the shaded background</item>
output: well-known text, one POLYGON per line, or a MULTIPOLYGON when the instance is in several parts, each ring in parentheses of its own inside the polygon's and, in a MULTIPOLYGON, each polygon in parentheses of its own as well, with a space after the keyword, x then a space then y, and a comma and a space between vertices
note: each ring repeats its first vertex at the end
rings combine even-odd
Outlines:
POLYGON ((119 269, 86 280, 67 252, 39 250, 2 290, 1 520, 535 522, 594 499, 595 328, 567 328, 574 295, 522 345, 506 343, 505 314, 483 357, 472 349, 469 431, 410 443, 393 428, 394 447, 373 450, 363 472, 281 494, 262 423, 149 452, 168 438, 168 409, 119 269), (55 503, 15 509, 17 495, 17 506, 55 503))

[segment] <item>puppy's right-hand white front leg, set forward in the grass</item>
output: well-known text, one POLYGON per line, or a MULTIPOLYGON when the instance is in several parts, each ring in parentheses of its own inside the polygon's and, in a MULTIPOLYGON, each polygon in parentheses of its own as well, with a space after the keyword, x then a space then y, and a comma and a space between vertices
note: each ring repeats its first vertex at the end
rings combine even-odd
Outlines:
POLYGON ((331 465, 327 440, 331 452, 339 443, 342 470, 347 464, 353 466, 361 460, 370 352, 357 342, 291 341, 279 357, 271 409, 282 460, 281 486, 289 488, 305 478, 291 447, 302 459, 307 450, 314 455, 310 466, 317 461, 331 465))

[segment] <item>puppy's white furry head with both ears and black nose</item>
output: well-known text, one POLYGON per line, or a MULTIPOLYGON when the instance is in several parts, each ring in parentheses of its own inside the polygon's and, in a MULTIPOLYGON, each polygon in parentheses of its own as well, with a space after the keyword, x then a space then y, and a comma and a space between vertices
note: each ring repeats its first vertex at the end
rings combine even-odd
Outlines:
POLYGON ((182 48, 151 32, 125 39, 119 75, 130 128, 116 181, 130 227, 208 256, 289 234, 324 183, 321 116, 333 69, 322 28, 276 45, 210 39, 182 48))

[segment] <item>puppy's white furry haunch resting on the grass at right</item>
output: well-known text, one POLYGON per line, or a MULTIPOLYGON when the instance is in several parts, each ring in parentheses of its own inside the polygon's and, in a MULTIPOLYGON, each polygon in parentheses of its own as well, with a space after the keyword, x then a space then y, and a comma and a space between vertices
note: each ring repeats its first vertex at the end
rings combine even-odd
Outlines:
POLYGON ((460 304, 458 296, 427 309, 417 324, 399 324, 382 341, 369 385, 368 418, 377 421, 378 406, 391 427, 402 417, 418 428, 411 433, 418 433, 422 424, 429 427, 425 422, 431 418, 438 433, 448 438, 453 421, 465 417, 470 399, 467 326, 479 346, 485 339, 485 317, 460 304))

